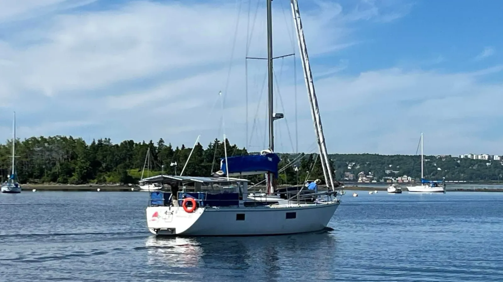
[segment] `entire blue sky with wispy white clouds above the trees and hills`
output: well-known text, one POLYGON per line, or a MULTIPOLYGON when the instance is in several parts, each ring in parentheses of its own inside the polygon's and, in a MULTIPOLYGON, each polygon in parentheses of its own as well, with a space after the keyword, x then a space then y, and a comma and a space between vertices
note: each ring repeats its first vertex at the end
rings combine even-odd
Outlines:
MULTIPOLYGON (((427 154, 503 154, 503 2, 299 2, 330 153, 413 154, 424 132, 427 154)), ((264 1, 0 0, 0 138, 16 111, 21 138, 192 146, 225 131, 262 149, 263 61, 248 62, 245 129, 248 4, 248 55, 265 56, 264 1)), ((273 9, 275 55, 298 53, 289 1, 273 9)), ((295 83, 292 58, 275 61, 276 149, 295 150, 296 90, 299 151, 312 152, 296 68, 295 83)))

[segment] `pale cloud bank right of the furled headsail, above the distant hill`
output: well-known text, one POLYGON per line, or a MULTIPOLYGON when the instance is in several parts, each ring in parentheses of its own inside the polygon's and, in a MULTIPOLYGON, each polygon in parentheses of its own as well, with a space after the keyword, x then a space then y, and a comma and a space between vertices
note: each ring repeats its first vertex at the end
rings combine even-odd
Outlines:
MULTIPOLYGON (((425 153, 501 153, 497 144, 503 135, 493 121, 503 114, 490 105, 503 103, 503 83, 483 82, 480 72, 388 69, 317 81, 318 93, 324 93, 321 105, 327 107, 330 92, 337 101, 336 110, 321 112, 342 135, 329 131, 327 139, 343 139, 337 143, 346 152, 413 154, 424 132, 425 153), (493 140, 488 133, 496 133, 493 140)), ((337 146, 330 144, 330 150, 337 146)))

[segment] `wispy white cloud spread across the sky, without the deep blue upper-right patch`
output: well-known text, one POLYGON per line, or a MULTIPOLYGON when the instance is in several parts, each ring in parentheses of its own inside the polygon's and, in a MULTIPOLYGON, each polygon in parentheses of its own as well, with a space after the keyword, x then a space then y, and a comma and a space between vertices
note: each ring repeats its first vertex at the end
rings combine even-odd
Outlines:
MULTIPOLYGON (((244 145, 246 2, 227 77, 235 32, 234 4, 139 1, 106 10, 74 11, 68 10, 69 1, 44 1, 26 2, 21 7, 0 0, 0 11, 4 11, 0 21, 12 21, 20 15, 38 21, 17 26, 16 35, 0 41, 0 106, 4 113, 0 138, 10 137, 10 110, 15 109, 21 137, 74 134, 86 139, 111 137, 115 142, 162 137, 174 145, 192 146, 202 134, 201 143, 207 144, 222 135, 218 134, 220 102, 213 107, 222 90, 226 97, 226 134, 232 142, 244 145), (9 9, 2 10, 5 7, 9 9), (40 17, 38 11, 45 16, 40 17)), ((255 3, 251 5, 251 19, 255 3)), ((499 71, 498 66, 471 73, 391 68, 344 75, 353 62, 341 57, 331 65, 325 55, 361 41, 352 25, 389 22, 403 17, 410 7, 392 1, 386 5, 362 1, 357 8, 303 3, 305 7, 300 8, 310 58, 323 61, 314 66, 313 75, 329 151, 409 152, 415 150, 421 131, 428 136, 430 143, 425 146, 432 148, 432 153, 499 148, 497 142, 473 134, 479 128, 477 118, 496 118, 497 114, 469 110, 483 99, 499 101, 494 100, 500 99, 494 93, 501 92, 501 85, 480 79, 499 71), (473 118, 463 121, 469 133, 463 131, 459 121, 466 117, 473 118), (457 142, 457 138, 464 139, 457 142), (452 142, 456 145, 449 146, 452 142)), ((283 11, 280 4, 273 2, 275 55, 292 53, 289 5, 285 3, 283 11)), ((265 36, 265 11, 260 6, 249 56, 266 56, 265 36)), ((297 48, 296 41, 293 44, 297 48)), ((248 61, 248 67, 248 139, 260 104, 262 119, 251 143, 261 146, 267 96, 267 85, 262 87, 265 62, 248 61)), ((302 151, 312 145, 314 134, 300 63, 297 70, 302 151)), ((275 73, 281 81, 285 116, 294 134, 291 58, 276 61, 275 73)), ((279 104, 276 108, 281 109, 279 104)), ((281 131, 277 144, 291 151, 285 120, 276 124, 281 131)))

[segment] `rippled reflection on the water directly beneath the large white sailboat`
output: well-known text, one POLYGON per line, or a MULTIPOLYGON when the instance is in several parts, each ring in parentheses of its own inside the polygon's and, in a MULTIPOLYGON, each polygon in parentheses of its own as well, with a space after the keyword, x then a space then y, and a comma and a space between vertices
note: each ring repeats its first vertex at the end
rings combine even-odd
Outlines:
MULTIPOLYGON (((333 269, 336 238, 327 231, 267 237, 156 237, 145 242, 148 264, 170 279, 309 280, 312 268, 333 269), (200 269, 201 271, 194 271, 200 269), (218 278, 218 279, 217 279, 218 278)), ((336 279, 333 271, 317 277, 336 279)))

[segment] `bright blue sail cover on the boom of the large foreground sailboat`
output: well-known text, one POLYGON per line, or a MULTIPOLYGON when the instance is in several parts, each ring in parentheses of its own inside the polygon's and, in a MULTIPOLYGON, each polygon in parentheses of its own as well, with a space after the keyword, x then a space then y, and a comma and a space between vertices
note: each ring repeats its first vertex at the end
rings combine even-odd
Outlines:
POLYGON ((227 158, 227 165, 225 165, 225 158, 221 158, 220 170, 227 174, 227 166, 229 167, 229 174, 243 173, 243 174, 258 174, 264 172, 272 172, 275 177, 278 177, 278 163, 280 158, 275 153, 266 155, 246 155, 235 156, 227 158), (248 172, 248 173, 246 173, 248 172), (249 173, 256 172, 256 173, 249 173))

